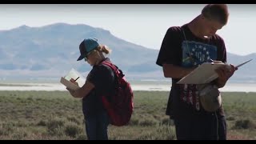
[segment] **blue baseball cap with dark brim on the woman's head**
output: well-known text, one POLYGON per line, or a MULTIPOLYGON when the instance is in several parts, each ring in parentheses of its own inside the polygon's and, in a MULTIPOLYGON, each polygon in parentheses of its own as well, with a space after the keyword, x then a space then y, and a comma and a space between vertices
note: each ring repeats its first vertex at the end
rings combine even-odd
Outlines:
POLYGON ((96 39, 96 38, 86 38, 86 39, 84 39, 79 45, 79 50, 80 50, 81 55, 80 55, 80 57, 78 58, 77 61, 82 60, 83 58, 86 57, 86 55, 88 53, 90 53, 91 50, 96 49, 99 46, 97 41, 98 41, 98 39, 96 39))

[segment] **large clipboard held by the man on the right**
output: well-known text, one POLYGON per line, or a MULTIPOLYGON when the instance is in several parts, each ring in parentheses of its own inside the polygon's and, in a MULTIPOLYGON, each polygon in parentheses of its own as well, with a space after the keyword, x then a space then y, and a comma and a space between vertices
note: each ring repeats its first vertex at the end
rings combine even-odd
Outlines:
MULTIPOLYGON (((242 62, 236 68, 243 66, 252 59, 242 62)), ((205 84, 218 78, 218 74, 215 72, 220 66, 229 66, 223 62, 204 62, 202 65, 198 66, 195 70, 191 71, 184 78, 179 80, 177 84, 205 84)))

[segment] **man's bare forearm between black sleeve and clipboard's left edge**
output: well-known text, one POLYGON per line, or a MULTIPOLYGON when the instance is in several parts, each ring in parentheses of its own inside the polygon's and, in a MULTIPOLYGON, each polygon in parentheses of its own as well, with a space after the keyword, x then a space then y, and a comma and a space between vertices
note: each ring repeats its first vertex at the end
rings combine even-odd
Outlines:
POLYGON ((195 67, 184 68, 181 66, 174 66, 173 64, 162 64, 163 74, 166 78, 183 78, 187 74, 190 74, 194 69, 195 67))

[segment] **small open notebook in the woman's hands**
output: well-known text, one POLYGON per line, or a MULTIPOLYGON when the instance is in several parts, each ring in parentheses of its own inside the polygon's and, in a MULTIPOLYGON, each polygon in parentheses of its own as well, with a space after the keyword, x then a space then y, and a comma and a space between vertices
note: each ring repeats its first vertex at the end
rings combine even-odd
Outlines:
POLYGON ((70 72, 66 74, 66 76, 61 77, 60 82, 64 86, 70 88, 71 90, 78 90, 80 87, 82 87, 85 84, 86 78, 82 77, 82 74, 78 73, 77 70, 74 70, 72 68, 70 72), (76 82, 78 82, 78 86, 70 82, 71 78, 77 79, 76 82))

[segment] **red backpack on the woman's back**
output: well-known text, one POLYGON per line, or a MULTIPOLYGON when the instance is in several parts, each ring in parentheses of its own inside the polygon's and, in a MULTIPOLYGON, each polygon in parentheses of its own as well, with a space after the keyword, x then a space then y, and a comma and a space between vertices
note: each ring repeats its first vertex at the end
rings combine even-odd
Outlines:
POLYGON ((109 66, 114 72, 117 80, 114 94, 110 95, 110 99, 102 96, 103 106, 106 108, 110 116, 110 124, 114 126, 124 126, 130 121, 131 114, 134 110, 134 94, 131 90, 130 83, 126 81, 122 70, 118 69, 111 62, 104 61, 103 65, 109 66))

